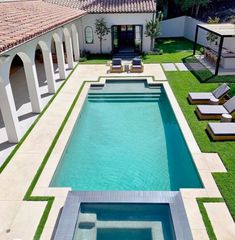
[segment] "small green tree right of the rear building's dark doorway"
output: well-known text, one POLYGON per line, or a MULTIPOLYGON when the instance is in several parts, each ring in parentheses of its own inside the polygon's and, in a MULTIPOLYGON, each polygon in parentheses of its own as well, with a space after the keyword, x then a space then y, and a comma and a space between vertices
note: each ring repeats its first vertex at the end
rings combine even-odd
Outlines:
POLYGON ((157 37, 159 37, 160 34, 161 34, 161 32, 160 32, 160 22, 162 21, 162 19, 163 19, 162 12, 158 12, 157 16, 154 14, 152 20, 146 22, 145 36, 151 38, 151 41, 150 41, 150 50, 151 51, 154 50, 155 39, 157 37))

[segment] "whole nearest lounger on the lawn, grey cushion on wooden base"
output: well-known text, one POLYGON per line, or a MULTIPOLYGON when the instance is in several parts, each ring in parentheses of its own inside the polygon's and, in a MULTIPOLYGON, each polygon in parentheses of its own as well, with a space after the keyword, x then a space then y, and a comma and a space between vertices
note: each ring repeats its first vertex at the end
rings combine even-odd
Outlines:
POLYGON ((235 140, 235 122, 209 123, 207 132, 215 141, 235 140))

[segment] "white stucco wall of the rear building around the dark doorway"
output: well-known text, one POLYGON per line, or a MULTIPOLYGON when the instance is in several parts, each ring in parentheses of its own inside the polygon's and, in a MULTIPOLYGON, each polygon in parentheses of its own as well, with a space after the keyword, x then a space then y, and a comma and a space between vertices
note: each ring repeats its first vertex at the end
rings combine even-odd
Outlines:
MULTIPOLYGON (((95 34, 95 21, 103 17, 107 22, 109 28, 112 25, 143 25, 143 51, 150 50, 150 38, 146 37, 145 23, 152 18, 151 13, 122 13, 122 14, 88 14, 84 16, 79 23, 79 41, 81 50, 90 51, 91 53, 100 52, 100 44, 97 35, 95 34), (85 28, 91 26, 94 34, 94 43, 86 44, 85 42, 85 28)), ((103 40, 103 52, 110 53, 112 51, 112 37, 111 32, 103 40)))

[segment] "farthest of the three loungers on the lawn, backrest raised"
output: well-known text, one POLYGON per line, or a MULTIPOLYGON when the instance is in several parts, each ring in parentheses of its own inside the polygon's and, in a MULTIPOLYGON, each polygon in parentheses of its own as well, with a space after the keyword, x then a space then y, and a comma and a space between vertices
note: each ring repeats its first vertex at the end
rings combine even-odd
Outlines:
POLYGON ((191 104, 210 104, 223 103, 229 92, 230 87, 224 83, 216 88, 213 92, 193 92, 188 94, 188 100, 191 104))

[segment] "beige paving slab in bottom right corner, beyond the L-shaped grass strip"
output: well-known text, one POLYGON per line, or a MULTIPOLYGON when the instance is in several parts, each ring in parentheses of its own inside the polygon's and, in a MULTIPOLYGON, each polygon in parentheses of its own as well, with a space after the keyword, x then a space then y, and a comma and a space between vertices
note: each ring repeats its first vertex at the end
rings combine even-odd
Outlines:
POLYGON ((218 240, 234 240, 235 224, 223 202, 205 203, 212 227, 218 240))

